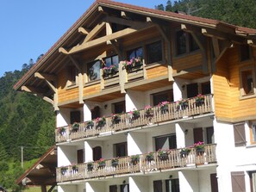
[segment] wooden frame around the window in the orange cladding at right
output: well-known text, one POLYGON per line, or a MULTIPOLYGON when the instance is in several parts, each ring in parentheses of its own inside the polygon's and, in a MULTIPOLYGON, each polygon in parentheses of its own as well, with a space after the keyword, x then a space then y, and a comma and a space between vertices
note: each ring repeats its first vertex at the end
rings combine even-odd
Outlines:
POLYGON ((247 65, 247 66, 240 67, 239 78, 240 78, 240 99, 247 99, 247 98, 255 97, 256 96, 255 66, 254 65, 247 65), (244 89, 244 86, 243 86, 243 77, 242 77, 242 73, 244 71, 252 71, 253 93, 245 94, 245 89, 244 89))

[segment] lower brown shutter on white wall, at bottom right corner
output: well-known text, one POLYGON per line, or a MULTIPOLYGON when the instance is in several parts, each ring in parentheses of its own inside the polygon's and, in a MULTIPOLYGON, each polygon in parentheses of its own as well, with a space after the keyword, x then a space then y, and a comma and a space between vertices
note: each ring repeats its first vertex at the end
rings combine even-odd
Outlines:
POLYGON ((233 192, 246 192, 244 171, 231 172, 231 182, 233 192))

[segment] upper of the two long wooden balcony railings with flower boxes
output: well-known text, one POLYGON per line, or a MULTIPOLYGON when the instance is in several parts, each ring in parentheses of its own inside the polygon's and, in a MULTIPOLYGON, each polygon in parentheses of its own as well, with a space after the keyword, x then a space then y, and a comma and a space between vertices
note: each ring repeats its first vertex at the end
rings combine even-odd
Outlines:
POLYGON ((203 115, 212 112, 212 95, 204 96, 202 103, 197 103, 196 98, 187 100, 186 106, 181 106, 178 102, 171 102, 164 110, 159 106, 152 108, 151 115, 146 114, 145 109, 139 110, 140 115, 134 118, 129 113, 121 114, 120 121, 115 123, 112 117, 106 117, 105 123, 100 125, 97 120, 78 123, 78 127, 72 126, 59 127, 55 130, 55 141, 65 142, 70 139, 82 139, 103 134, 152 125, 163 121, 173 121, 193 115, 203 115))

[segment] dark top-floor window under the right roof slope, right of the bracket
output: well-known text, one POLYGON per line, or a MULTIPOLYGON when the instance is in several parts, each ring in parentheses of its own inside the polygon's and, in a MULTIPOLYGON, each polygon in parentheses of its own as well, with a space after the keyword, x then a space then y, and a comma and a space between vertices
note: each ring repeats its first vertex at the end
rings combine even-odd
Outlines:
POLYGON ((196 51, 199 49, 196 40, 191 34, 180 30, 176 33, 176 54, 184 54, 196 51))

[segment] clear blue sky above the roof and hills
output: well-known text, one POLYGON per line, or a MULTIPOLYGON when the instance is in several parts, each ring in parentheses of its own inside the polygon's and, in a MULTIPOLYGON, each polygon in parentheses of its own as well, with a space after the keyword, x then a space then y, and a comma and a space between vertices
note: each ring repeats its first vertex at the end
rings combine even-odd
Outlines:
MULTIPOLYGON (((167 0, 116 0, 154 9, 167 0)), ((21 70, 59 40, 94 0, 1 0, 0 77, 21 70)))

